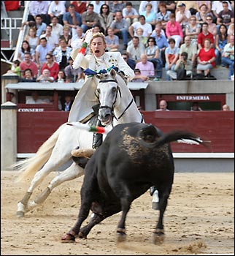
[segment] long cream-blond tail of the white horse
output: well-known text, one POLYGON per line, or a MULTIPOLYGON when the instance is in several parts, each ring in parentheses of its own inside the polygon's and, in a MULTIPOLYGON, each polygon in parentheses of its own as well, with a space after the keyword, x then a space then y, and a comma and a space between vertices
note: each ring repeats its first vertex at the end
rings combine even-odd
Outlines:
POLYGON ((62 124, 61 127, 59 127, 53 135, 51 135, 50 138, 48 138, 45 143, 39 147, 34 157, 18 161, 15 165, 12 165, 14 169, 20 170, 18 178, 16 178, 17 182, 30 180, 34 174, 42 168, 45 162, 50 158, 58 139, 58 135, 61 133, 61 130, 65 125, 66 124, 62 124))

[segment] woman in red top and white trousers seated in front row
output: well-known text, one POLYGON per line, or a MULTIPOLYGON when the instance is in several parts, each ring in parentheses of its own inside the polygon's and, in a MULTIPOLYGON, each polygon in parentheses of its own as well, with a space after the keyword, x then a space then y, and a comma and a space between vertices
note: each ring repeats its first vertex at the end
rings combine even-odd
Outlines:
POLYGON ((215 67, 215 59, 215 50, 211 48, 210 39, 206 38, 204 40, 204 48, 201 48, 201 50, 199 50, 196 72, 200 74, 202 71, 204 71, 205 77, 208 78, 210 69, 215 67))

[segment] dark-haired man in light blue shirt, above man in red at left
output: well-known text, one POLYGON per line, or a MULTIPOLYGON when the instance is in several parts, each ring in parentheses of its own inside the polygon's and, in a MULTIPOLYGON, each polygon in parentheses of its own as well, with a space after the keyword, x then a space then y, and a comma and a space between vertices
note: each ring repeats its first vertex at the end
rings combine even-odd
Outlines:
POLYGON ((45 37, 40 38, 40 45, 36 47, 36 67, 40 69, 44 62, 46 61, 47 53, 52 53, 53 49, 47 43, 47 39, 45 37))

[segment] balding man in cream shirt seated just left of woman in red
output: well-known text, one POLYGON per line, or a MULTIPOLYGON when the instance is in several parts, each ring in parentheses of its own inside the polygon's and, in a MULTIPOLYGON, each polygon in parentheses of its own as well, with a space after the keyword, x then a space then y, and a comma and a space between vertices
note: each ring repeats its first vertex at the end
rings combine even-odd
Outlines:
POLYGON ((188 53, 188 61, 190 61, 191 70, 196 67, 197 47, 190 40, 190 37, 185 37, 185 43, 180 46, 180 55, 188 53))

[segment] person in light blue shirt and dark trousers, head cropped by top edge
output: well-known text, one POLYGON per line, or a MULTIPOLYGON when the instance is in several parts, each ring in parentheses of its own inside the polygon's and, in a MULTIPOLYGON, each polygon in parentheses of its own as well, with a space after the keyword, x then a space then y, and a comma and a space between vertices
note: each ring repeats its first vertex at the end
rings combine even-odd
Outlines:
POLYGON ((31 1, 29 7, 28 21, 36 21, 36 15, 41 15, 42 20, 47 25, 50 24, 50 15, 48 15, 48 1, 31 1))

